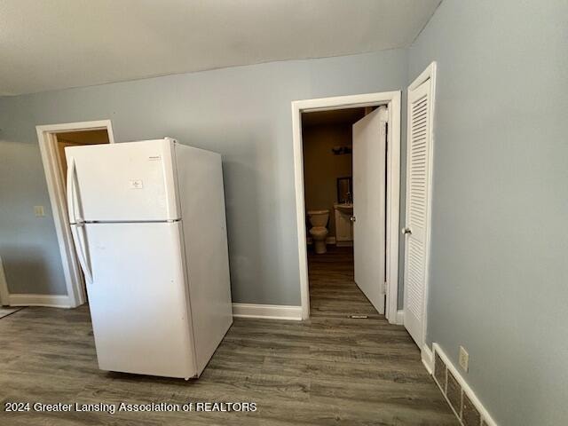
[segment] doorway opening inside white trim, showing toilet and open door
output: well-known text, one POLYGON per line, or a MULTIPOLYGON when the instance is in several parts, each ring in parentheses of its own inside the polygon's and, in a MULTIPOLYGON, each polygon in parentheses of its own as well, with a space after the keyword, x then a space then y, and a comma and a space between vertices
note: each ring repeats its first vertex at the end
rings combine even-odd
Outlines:
POLYGON ((383 289, 374 284, 384 282, 386 134, 376 119, 385 112, 385 106, 367 106, 302 114, 312 318, 381 318, 377 312, 384 313, 383 289), (382 164, 367 170, 366 157, 382 164), (369 180, 375 180, 375 197, 362 187, 369 180), (377 204, 376 217, 359 233, 359 225, 369 220, 362 206, 369 199, 377 204), (379 235, 372 235, 375 231, 379 235), (362 253, 361 246, 369 243, 375 246, 368 248, 371 253, 362 253))

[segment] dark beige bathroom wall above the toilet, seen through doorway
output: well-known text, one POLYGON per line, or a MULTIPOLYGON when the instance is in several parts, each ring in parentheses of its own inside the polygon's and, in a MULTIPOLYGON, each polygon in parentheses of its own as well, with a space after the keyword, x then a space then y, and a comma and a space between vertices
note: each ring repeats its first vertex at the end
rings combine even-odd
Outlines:
MULTIPOLYGON (((305 207, 329 209, 328 237, 335 236, 334 202, 337 177, 351 176, 352 155, 334 155, 334 146, 352 145, 351 123, 322 124, 303 129, 305 207)), ((309 223, 308 223, 309 224, 309 223)))

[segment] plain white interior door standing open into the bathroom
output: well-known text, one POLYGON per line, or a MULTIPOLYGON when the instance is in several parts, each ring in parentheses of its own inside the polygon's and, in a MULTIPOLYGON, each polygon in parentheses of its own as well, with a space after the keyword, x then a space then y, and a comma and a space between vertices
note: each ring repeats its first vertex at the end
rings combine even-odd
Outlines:
POLYGON ((353 249, 355 282, 384 313, 386 123, 379 106, 353 124, 353 249))

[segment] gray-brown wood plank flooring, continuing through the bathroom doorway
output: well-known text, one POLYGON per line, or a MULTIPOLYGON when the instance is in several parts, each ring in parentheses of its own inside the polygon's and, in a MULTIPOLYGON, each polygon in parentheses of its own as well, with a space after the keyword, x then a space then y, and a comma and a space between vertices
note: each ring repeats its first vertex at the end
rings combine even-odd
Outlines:
POLYGON ((309 321, 235 319, 189 382, 99 370, 86 306, 0 319, 0 424, 457 425, 405 329, 388 324, 354 284, 351 249, 310 255, 309 267, 309 321), (257 411, 5 413, 6 401, 247 401, 257 411))

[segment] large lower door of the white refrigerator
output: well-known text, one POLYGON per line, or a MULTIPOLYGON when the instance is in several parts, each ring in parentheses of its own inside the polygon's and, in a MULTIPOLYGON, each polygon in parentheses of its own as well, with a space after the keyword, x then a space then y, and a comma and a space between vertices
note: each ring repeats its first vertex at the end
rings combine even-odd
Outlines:
POLYGON ((99 368, 193 377, 180 222, 87 224, 87 284, 99 368))

